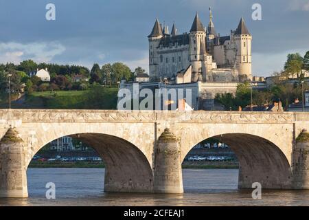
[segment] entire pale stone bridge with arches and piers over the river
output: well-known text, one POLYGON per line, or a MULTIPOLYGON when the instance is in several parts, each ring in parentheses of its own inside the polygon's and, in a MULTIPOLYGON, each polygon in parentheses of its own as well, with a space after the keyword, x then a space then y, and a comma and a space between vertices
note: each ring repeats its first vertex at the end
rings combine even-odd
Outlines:
POLYGON ((239 188, 309 188, 309 113, 0 110, 0 197, 27 197, 27 166, 52 140, 76 137, 106 164, 106 192, 182 193, 181 163, 215 137, 240 162, 239 188), (297 138, 298 137, 298 138, 297 138))

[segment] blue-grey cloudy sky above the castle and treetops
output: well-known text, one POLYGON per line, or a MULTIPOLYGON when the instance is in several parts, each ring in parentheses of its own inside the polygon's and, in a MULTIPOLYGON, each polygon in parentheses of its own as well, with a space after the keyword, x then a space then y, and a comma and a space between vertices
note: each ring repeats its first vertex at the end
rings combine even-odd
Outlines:
POLYGON ((253 35, 254 76, 280 71, 288 53, 309 50, 309 0, 0 0, 0 63, 85 65, 123 62, 148 71, 148 39, 155 19, 189 32, 198 12, 206 26, 209 7, 220 36, 236 30, 241 17, 253 35), (47 21, 46 5, 56 6, 47 21), (253 3, 262 20, 251 18, 253 3))

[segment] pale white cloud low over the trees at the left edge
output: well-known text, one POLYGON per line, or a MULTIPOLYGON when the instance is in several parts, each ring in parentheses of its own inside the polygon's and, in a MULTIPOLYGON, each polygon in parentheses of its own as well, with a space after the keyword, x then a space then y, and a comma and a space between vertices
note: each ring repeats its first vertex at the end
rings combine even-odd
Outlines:
POLYGON ((65 52, 65 47, 57 42, 43 43, 0 43, 0 63, 20 63, 32 59, 37 63, 49 63, 65 52))

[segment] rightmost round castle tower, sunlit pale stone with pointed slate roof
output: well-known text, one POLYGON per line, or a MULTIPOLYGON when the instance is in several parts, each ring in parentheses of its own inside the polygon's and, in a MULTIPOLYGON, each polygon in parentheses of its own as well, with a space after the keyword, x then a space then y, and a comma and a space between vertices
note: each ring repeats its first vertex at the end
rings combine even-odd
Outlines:
POLYGON ((252 35, 244 24, 244 19, 240 19, 238 28, 234 32, 236 42, 236 67, 240 76, 252 78, 251 72, 251 41, 252 35))

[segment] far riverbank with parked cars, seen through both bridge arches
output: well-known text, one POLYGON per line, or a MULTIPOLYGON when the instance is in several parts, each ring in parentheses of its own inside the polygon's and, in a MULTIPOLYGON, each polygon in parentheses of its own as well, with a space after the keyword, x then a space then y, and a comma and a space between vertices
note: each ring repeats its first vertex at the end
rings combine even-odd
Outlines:
MULTIPOLYGON (((183 162, 184 169, 237 169, 237 162, 183 162)), ((37 162, 32 161, 29 168, 105 168, 103 162, 37 162)))

